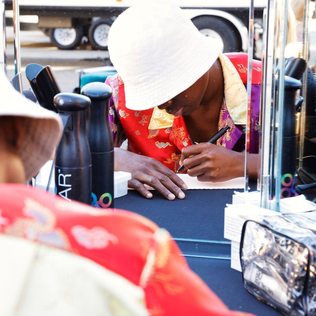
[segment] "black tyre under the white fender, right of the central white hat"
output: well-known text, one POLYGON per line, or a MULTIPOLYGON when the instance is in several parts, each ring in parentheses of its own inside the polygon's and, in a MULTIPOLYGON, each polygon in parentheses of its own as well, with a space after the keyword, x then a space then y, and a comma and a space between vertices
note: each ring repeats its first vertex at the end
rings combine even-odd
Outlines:
POLYGON ((193 19, 192 22, 203 35, 222 40, 224 53, 241 50, 240 35, 229 22, 205 15, 193 19))

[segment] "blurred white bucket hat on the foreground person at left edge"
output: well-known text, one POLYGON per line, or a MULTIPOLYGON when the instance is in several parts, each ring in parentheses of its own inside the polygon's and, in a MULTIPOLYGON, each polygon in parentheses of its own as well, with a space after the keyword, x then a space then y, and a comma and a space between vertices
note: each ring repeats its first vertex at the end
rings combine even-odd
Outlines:
POLYGON ((0 70, 0 82, 3 89, 0 116, 25 118, 23 143, 18 154, 24 165, 26 179, 29 180, 51 158, 62 135, 63 124, 56 113, 42 108, 19 94, 2 70, 0 70))

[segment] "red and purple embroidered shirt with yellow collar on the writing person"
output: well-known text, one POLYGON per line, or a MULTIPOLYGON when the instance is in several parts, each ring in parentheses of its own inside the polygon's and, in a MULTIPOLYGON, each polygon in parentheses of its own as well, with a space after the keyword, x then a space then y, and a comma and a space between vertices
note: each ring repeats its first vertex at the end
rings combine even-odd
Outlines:
MULTIPOLYGON (((244 53, 219 56, 224 76, 224 102, 220 110, 218 130, 226 125, 231 129, 217 145, 242 152, 245 150, 247 108, 247 61, 244 53)), ((116 147, 127 138, 129 149, 139 155, 152 157, 175 172, 179 168, 181 150, 192 145, 182 115, 173 116, 158 107, 134 111, 125 106, 124 82, 119 75, 109 76, 106 83, 112 88, 109 117, 116 147)), ((258 153, 259 101, 261 62, 253 60, 252 98, 250 111, 250 152, 258 153)), ((187 170, 183 170, 186 173, 187 170)))

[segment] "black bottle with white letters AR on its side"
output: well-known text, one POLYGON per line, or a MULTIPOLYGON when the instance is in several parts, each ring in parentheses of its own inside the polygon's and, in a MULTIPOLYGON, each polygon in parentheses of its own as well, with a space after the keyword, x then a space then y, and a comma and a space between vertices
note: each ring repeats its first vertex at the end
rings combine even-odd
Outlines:
POLYGON ((55 191, 68 201, 91 204, 91 154, 86 133, 89 98, 59 93, 54 105, 64 121, 64 134, 56 151, 55 191))

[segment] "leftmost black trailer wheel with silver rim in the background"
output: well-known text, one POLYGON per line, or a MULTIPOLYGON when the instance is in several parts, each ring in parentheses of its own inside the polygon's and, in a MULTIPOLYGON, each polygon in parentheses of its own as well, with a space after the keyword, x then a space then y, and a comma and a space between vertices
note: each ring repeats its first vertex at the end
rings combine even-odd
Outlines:
POLYGON ((52 43, 59 49, 74 49, 81 44, 83 28, 51 28, 48 34, 52 43))

